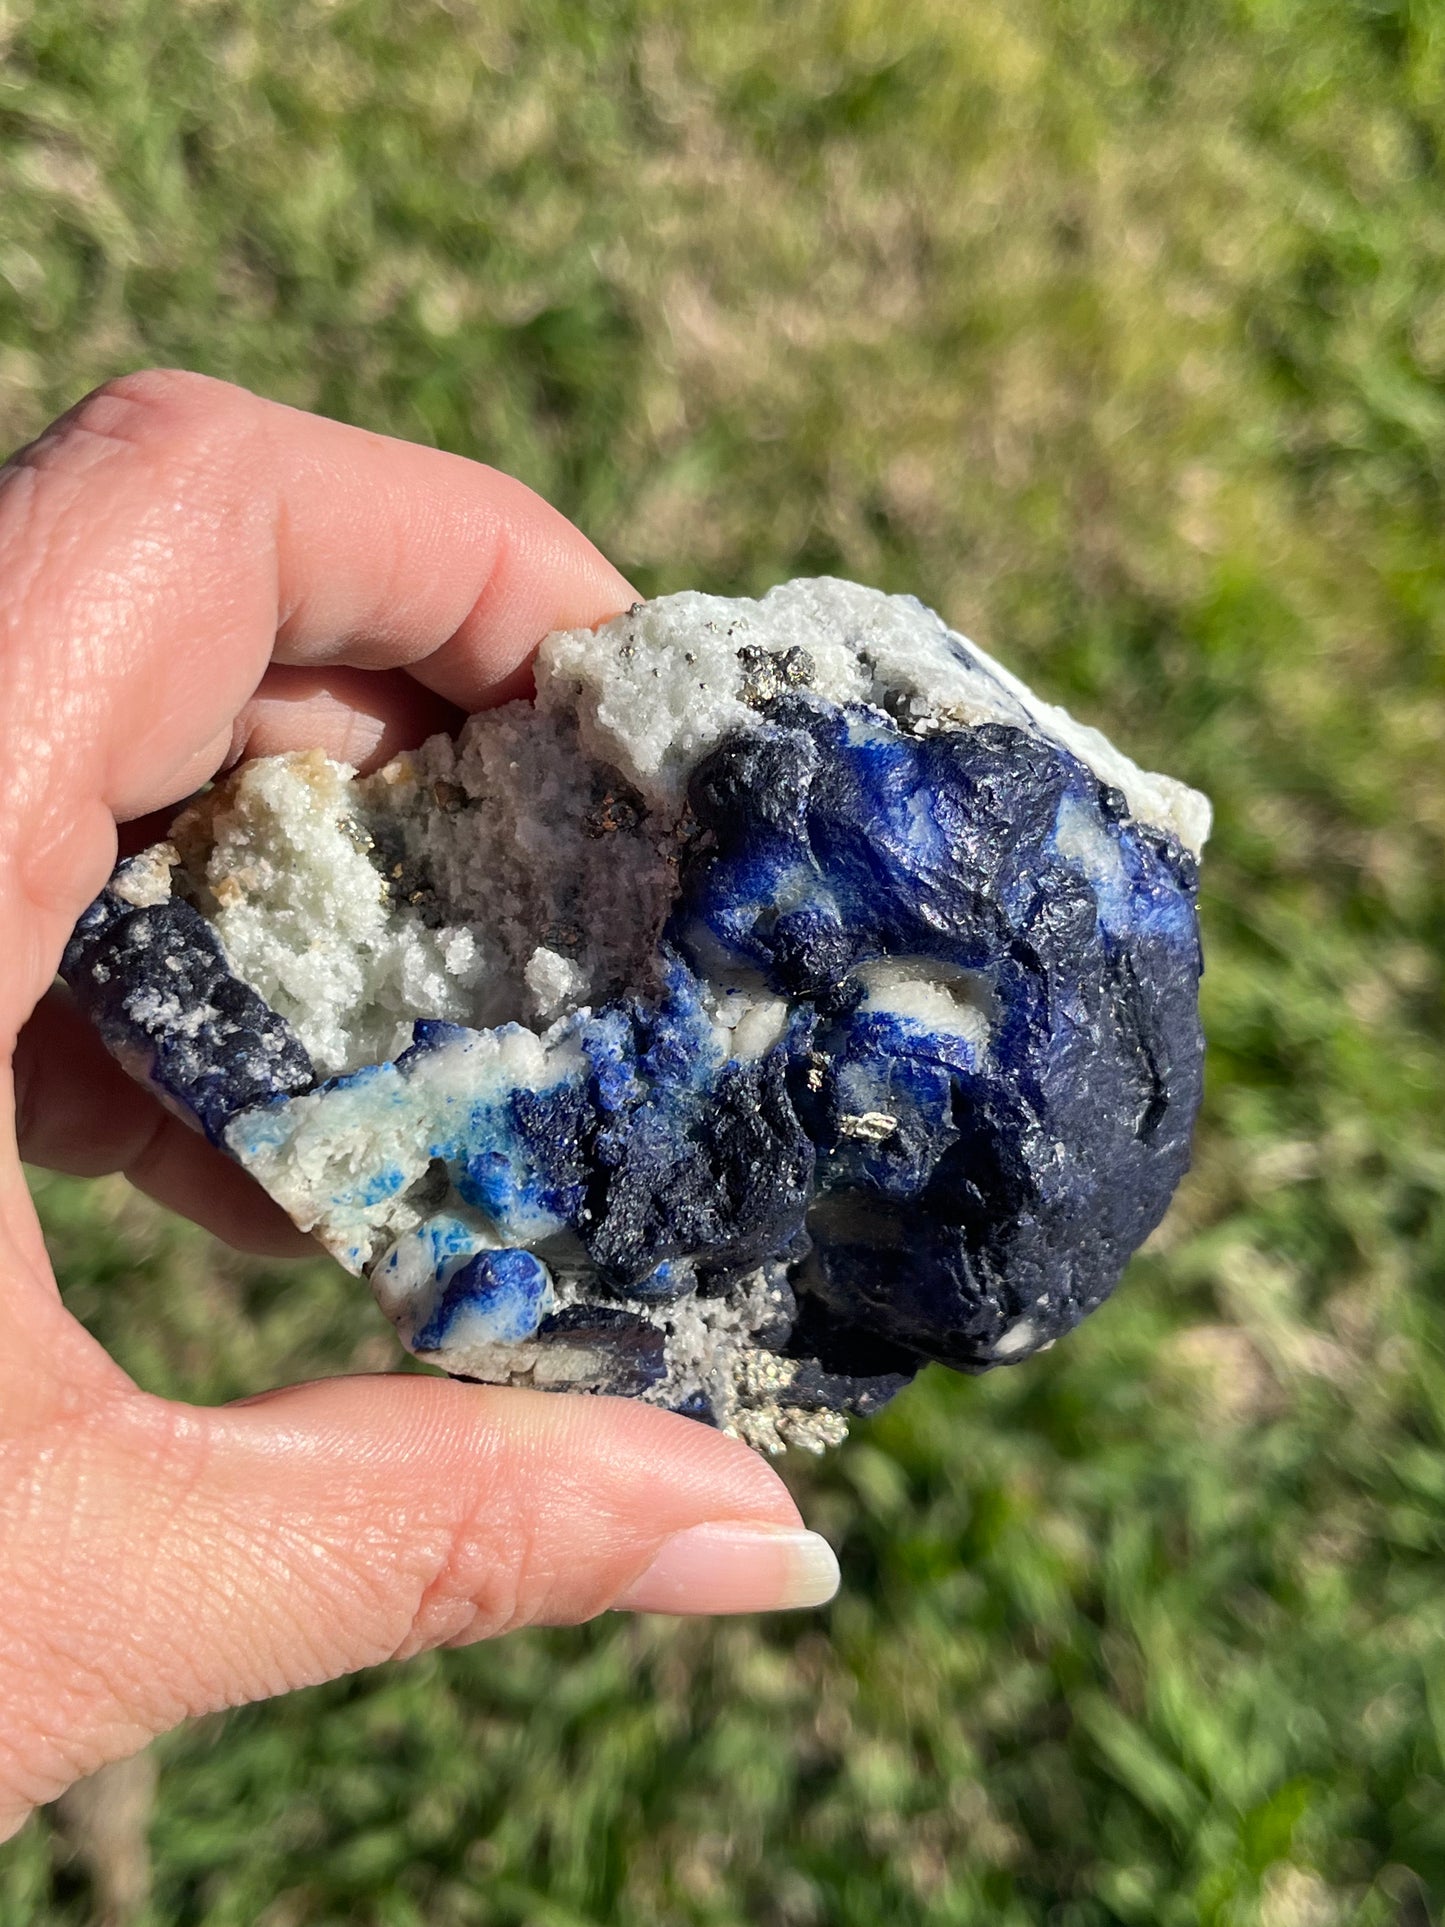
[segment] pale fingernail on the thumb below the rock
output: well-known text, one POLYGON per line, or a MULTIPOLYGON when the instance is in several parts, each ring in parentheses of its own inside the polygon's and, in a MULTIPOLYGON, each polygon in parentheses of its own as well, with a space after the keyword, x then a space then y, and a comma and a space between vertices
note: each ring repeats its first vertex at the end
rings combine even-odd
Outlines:
POLYGON ((838 1590, 838 1559, 801 1526, 713 1522, 665 1540, 622 1613, 786 1613, 838 1590))

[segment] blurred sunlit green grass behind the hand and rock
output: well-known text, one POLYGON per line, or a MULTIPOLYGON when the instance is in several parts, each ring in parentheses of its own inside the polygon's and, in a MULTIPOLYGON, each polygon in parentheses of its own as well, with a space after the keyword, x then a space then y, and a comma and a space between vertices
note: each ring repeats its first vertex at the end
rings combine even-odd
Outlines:
MULTIPOLYGON (((181 362, 649 592, 913 590, 1208 788, 1196 1170, 1048 1359, 790 1465, 844 1592, 156 1750, 206 1927, 1424 1927, 1445 1902, 1445 10, 0 0, 0 445, 181 362)), ((39 1179, 156 1389, 355 1283, 39 1179)), ((48 1819, 0 1919, 92 1919, 48 1819)))

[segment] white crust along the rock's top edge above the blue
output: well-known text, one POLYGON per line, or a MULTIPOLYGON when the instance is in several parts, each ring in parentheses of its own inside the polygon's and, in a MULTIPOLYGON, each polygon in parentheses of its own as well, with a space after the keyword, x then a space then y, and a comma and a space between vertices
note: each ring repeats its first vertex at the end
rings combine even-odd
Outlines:
POLYGON ((888 709, 915 730, 1033 723, 1123 790, 1139 819, 1173 831, 1195 854, 1208 836, 1210 805, 1198 790, 1139 769, 915 597, 830 576, 784 582, 761 601, 663 595, 601 630, 549 636, 538 657, 538 703, 576 709, 595 755, 655 802, 676 804, 699 757, 751 715, 749 665, 740 655, 748 649, 801 649, 811 667, 798 686, 888 709))

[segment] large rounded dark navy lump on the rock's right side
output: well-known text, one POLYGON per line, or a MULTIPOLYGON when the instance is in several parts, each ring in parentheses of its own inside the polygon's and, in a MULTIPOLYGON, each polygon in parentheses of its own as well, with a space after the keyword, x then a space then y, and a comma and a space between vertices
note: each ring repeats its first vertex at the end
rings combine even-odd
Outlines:
POLYGON ((807 1289, 961 1368, 1069 1330, 1189 1164, 1193 858, 1050 742, 911 738, 807 696, 724 742, 690 804, 676 940, 821 1012, 790 1066, 807 1289), (929 994, 867 992, 904 960, 929 994))

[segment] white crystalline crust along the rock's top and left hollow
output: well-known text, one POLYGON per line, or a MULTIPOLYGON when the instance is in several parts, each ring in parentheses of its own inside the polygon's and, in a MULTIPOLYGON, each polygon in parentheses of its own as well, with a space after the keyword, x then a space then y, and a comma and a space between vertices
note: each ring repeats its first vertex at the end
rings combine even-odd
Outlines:
MULTIPOLYGON (((250 763, 175 825, 177 888, 322 1075, 395 1056, 416 1016, 543 1029, 645 987, 686 780, 780 688, 917 732, 1033 723, 1139 817, 1193 850, 1208 832, 1196 790, 1040 703, 913 597, 823 578, 761 601, 667 595, 549 636, 536 707, 472 717, 374 777, 320 752, 250 763)), ((135 888, 154 898, 164 879, 135 888)), ((742 1025, 738 1050, 765 1050, 780 1017, 742 1025)))

